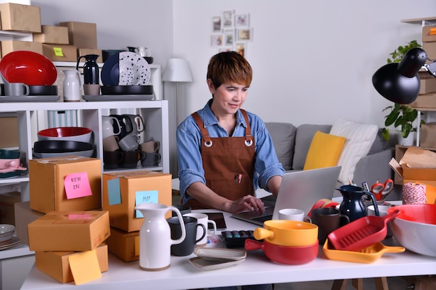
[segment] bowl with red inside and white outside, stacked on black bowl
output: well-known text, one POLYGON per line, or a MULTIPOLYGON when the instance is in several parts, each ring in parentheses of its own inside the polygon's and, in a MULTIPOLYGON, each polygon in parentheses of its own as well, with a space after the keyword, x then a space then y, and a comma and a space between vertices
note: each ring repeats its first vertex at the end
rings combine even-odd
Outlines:
POLYGON ((88 143, 92 130, 85 127, 56 127, 38 131, 38 140, 70 140, 88 143))

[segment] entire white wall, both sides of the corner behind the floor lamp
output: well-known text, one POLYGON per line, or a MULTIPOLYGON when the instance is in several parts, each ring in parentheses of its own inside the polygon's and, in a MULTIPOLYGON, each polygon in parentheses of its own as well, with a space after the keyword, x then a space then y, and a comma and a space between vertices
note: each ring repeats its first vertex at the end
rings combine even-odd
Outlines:
MULTIPOLYGON (((421 39, 421 26, 401 19, 432 17, 433 0, 32 0, 42 24, 97 23, 100 49, 146 45, 155 63, 189 61, 192 83, 178 86, 182 120, 210 98, 205 74, 212 17, 224 11, 249 13, 254 41, 246 57, 254 68, 244 108, 266 122, 332 124, 336 118, 384 122, 391 104, 371 83, 375 70, 398 45, 421 39)), ((175 85, 164 84, 169 124, 175 120, 175 85)), ((170 128, 171 172, 176 172, 175 127, 170 128)))

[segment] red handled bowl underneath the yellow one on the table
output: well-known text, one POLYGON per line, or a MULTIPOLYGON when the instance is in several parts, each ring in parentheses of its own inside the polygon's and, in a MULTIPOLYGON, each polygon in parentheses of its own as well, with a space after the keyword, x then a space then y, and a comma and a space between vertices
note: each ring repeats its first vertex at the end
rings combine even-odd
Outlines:
POLYGON ((290 247, 286 245, 275 245, 263 241, 262 243, 253 239, 245 240, 245 250, 261 249, 271 261, 279 264, 298 265, 306 264, 313 261, 318 256, 318 241, 313 245, 304 245, 302 247, 290 247))

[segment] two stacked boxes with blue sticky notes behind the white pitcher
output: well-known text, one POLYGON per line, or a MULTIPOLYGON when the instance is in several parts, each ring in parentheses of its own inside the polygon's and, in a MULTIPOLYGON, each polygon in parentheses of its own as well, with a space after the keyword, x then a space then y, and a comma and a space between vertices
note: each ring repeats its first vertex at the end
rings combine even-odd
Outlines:
MULTIPOLYGON (((123 261, 139 259, 143 218, 134 207, 142 202, 170 206, 171 175, 148 170, 103 174, 103 210, 109 211, 109 252, 123 261)), ((171 211, 166 218, 171 216, 171 211)))

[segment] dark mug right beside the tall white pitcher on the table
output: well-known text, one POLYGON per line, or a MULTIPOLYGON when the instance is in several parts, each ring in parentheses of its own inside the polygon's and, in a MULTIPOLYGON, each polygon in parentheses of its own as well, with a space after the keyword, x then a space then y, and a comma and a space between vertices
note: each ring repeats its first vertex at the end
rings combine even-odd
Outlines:
MULTIPOLYGON (((197 219, 192 216, 183 216, 183 223, 185 223, 186 237, 182 243, 171 245, 171 255, 173 256, 188 256, 194 252, 195 244, 201 241, 206 234, 206 227, 197 223, 197 219), (197 227, 203 228, 203 234, 200 239, 195 239, 197 235, 197 227)), ((167 219, 171 229, 171 239, 180 239, 182 236, 182 229, 177 216, 167 219)))

